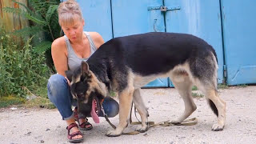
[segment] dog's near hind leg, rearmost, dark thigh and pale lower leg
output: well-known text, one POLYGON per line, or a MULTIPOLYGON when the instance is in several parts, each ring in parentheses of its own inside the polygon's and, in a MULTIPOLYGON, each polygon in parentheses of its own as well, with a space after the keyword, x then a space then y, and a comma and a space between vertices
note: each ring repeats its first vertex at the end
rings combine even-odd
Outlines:
POLYGON ((194 75, 195 85, 206 95, 210 107, 218 115, 218 123, 212 126, 212 130, 223 130, 226 120, 226 102, 218 97, 217 70, 218 63, 216 54, 209 53, 204 58, 195 58, 190 61, 191 74, 194 75))

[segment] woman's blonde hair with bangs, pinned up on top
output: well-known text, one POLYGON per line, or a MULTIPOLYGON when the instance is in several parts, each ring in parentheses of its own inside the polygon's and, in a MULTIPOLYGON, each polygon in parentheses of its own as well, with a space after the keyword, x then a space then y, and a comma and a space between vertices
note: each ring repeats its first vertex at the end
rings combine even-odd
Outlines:
POLYGON ((83 20, 80 6, 75 0, 61 2, 58 6, 58 23, 60 26, 73 25, 75 15, 83 20))

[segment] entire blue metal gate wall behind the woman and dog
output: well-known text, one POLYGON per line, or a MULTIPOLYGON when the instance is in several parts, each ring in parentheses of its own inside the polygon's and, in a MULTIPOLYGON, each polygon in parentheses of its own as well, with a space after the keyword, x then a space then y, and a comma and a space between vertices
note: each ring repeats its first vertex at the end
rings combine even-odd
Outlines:
MULTIPOLYGON (((229 85, 256 83, 256 43, 252 40, 256 1, 249 1, 78 0, 85 30, 97 31, 105 41, 151 31, 194 34, 206 40, 218 55, 218 82, 224 82, 226 74, 229 85)), ((172 85, 168 78, 158 78, 146 86, 172 85)))

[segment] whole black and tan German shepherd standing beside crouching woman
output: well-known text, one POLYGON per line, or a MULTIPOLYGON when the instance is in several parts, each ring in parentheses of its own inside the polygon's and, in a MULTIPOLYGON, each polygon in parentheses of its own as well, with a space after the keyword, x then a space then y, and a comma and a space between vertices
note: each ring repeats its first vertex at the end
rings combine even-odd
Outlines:
POLYGON ((101 101, 109 90, 118 93, 119 124, 107 136, 118 136, 128 126, 132 102, 141 116, 139 132, 148 130, 146 106, 140 88, 160 77, 170 77, 185 103, 180 123, 196 110, 191 88, 197 86, 205 94, 218 116, 212 130, 223 130, 226 102, 217 92, 217 56, 212 46, 190 34, 146 33, 113 38, 104 43, 77 70, 66 71, 70 91, 78 99, 78 113, 96 117, 101 101), (96 106, 96 108, 95 108, 96 106), (97 107, 98 106, 98 107, 97 107))

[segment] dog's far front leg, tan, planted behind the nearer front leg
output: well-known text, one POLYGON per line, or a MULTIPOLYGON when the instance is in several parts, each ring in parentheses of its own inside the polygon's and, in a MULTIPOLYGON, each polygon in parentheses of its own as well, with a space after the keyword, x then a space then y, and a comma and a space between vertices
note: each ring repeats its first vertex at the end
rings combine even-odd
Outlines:
POLYGON ((142 100, 140 90, 141 90, 140 88, 137 90, 134 90, 133 102, 134 102, 136 109, 138 110, 138 114, 140 114, 141 118, 142 118, 142 125, 139 125, 136 130, 143 133, 143 132, 146 132, 146 130, 148 130, 148 126, 146 123, 147 123, 147 118, 148 118, 149 114, 148 114, 148 111, 146 110, 146 106, 142 100))

